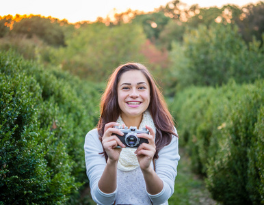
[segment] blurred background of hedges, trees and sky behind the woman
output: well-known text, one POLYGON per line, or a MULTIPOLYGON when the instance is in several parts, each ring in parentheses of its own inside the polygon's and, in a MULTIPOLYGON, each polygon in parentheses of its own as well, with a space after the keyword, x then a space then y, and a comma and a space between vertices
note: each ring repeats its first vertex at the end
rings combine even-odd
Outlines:
POLYGON ((263 31, 263 1, 3 1, 0 204, 93 204, 85 134, 129 61, 180 135, 170 204, 264 203, 263 31))

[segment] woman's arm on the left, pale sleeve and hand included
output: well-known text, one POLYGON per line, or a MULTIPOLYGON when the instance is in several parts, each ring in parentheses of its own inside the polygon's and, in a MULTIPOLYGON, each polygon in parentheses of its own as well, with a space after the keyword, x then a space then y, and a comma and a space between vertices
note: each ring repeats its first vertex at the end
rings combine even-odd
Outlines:
POLYGON ((85 164, 90 180, 91 194, 94 202, 98 204, 113 204, 116 199, 116 169, 121 148, 116 148, 122 142, 112 133, 122 135, 122 132, 112 126, 116 122, 105 125, 103 141, 99 141, 97 130, 90 131, 85 137, 85 164), (108 160, 105 162, 103 146, 107 152, 108 160))

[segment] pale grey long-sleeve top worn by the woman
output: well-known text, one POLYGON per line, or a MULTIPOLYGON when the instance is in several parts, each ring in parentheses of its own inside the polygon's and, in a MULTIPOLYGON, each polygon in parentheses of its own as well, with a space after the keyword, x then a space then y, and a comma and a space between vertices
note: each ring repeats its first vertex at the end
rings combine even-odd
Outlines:
MULTIPOLYGON (((176 132, 176 129, 175 129, 176 132)), ((155 161, 155 171, 159 178, 163 181, 163 190, 156 195, 150 195, 145 188, 145 182, 142 172, 131 171, 131 172, 124 172, 120 175, 121 180, 118 180, 117 189, 114 193, 103 193, 98 188, 98 181, 100 180, 103 171, 105 169, 105 157, 103 154, 99 154, 103 152, 103 146, 101 141, 98 138, 97 129, 90 131, 85 137, 85 144, 84 144, 84 151, 85 151, 85 165, 86 165, 86 173, 90 180, 90 189, 91 195, 94 202, 97 204, 114 204, 115 201, 126 201, 125 204, 140 204, 137 199, 142 198, 138 194, 135 197, 131 198, 134 191, 139 191, 140 189, 144 189, 140 191, 140 194, 143 194, 153 202, 153 204, 168 204, 168 199, 174 193, 174 180, 177 175, 177 165, 180 159, 179 156, 179 140, 178 137, 172 136, 172 141, 168 146, 165 146, 159 151, 159 159, 155 161), (135 176, 135 175, 142 175, 142 176, 135 176), (125 176, 125 177, 124 177, 125 176), (140 180, 142 183, 140 186, 133 183, 133 179, 141 177, 143 180, 140 180), (128 182, 132 182, 132 186, 125 182, 125 178, 130 178, 128 182), (122 183, 124 182, 124 183, 122 183), (138 189, 134 189, 137 187, 138 189), (143 187, 143 188, 142 188, 143 187), (122 194, 118 194, 121 191, 122 194), (128 191, 126 191, 128 190, 128 191), (127 193, 127 195, 126 195, 127 193), (122 199, 116 197, 122 197, 122 199)), ((140 170, 141 171, 141 170, 140 170)), ((118 173, 122 171, 118 170, 118 173)), ((148 202, 144 203, 147 204, 148 202)), ((118 204, 118 203, 117 203, 118 204)))

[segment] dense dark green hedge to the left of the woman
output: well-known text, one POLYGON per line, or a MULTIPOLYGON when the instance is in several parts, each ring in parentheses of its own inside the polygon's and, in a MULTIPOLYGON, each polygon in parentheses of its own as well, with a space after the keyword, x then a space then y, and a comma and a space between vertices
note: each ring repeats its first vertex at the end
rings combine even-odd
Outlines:
POLYGON ((0 204, 75 204, 100 85, 12 51, 0 52, 0 69, 0 204))

